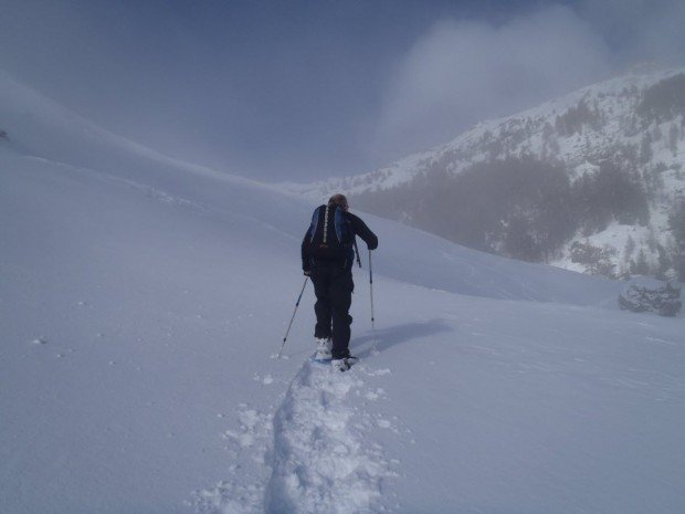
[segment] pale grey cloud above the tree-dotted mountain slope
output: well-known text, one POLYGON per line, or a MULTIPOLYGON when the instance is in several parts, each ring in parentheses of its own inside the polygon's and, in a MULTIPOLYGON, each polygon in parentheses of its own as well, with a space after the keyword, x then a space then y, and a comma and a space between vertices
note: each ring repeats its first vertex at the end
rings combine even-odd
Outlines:
POLYGON ((566 7, 502 25, 440 21, 398 66, 373 145, 394 157, 423 149, 603 77, 610 62, 602 38, 566 7))

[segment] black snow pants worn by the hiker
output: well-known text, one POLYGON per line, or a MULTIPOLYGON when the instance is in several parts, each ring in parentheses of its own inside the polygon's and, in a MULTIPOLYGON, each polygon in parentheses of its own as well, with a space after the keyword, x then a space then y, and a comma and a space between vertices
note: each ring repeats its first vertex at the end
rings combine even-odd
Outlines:
POLYGON ((349 357, 349 337, 352 316, 352 270, 340 268, 338 262, 319 261, 312 269, 312 283, 316 294, 314 337, 333 339, 333 358, 349 357))

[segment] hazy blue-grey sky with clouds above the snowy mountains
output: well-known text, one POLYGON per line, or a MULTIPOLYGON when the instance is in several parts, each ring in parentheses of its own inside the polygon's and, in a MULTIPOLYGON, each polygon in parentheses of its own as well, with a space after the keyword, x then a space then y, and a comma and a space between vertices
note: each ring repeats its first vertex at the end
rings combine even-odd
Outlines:
POLYGON ((679 0, 0 0, 0 69, 171 157, 357 175, 642 63, 679 0))

